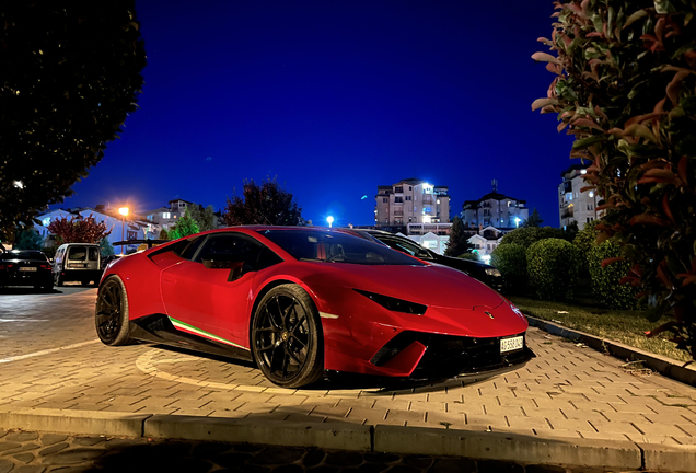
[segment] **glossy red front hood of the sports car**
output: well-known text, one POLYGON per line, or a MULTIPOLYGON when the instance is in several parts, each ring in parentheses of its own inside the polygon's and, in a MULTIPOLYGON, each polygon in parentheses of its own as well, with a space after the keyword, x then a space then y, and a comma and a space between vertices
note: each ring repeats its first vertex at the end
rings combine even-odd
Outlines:
MULTIPOLYGON (((326 264, 322 264, 326 266, 326 264)), ((445 266, 363 266, 332 264, 325 276, 352 289, 375 292, 433 308, 497 308, 503 299, 488 286, 445 266)), ((321 282, 326 279, 320 276, 321 282), (323 280, 322 280, 323 279, 323 280)), ((317 280, 317 282, 320 281, 317 280)))

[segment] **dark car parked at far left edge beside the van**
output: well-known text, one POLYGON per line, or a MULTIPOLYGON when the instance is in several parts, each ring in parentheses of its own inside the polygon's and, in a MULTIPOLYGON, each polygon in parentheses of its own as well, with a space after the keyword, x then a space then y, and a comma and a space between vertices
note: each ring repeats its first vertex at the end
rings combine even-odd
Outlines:
POLYGON ((10 250, 0 253, 0 287, 3 286, 53 289, 50 262, 44 253, 36 250, 10 250))

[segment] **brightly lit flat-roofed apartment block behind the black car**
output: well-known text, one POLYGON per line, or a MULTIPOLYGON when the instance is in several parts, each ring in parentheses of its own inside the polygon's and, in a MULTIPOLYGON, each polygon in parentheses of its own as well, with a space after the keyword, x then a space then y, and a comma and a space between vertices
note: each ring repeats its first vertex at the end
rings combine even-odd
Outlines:
POLYGON ((406 232, 408 223, 448 223, 450 195, 446 186, 408 178, 378 186, 374 224, 387 231, 406 232))

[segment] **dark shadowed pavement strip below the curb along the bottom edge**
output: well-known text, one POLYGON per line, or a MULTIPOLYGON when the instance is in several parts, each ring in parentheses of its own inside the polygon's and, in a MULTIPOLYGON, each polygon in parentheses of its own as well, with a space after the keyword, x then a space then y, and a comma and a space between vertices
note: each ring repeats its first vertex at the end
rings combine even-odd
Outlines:
POLYGON ((316 448, 72 437, 0 429, 0 473, 604 473, 495 460, 397 455, 316 448))

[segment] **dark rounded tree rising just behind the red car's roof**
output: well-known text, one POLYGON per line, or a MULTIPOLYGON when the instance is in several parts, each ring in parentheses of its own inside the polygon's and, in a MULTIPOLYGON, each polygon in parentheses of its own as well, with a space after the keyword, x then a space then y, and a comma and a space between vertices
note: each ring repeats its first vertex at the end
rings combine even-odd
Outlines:
POLYGON ((270 224, 297 226, 301 208, 292 194, 280 188, 275 180, 267 180, 259 186, 254 180, 244 182, 243 198, 228 198, 222 217, 228 226, 270 224))

